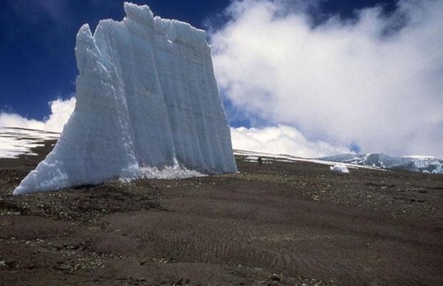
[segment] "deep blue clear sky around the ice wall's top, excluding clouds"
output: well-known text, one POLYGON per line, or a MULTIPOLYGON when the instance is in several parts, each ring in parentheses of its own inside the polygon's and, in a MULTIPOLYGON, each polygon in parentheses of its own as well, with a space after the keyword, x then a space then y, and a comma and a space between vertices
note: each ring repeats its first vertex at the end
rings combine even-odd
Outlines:
MULTIPOLYGON (((0 2, 0 108, 28 118, 48 116, 48 102, 74 94, 75 35, 84 23, 124 17, 124 1, 3 0, 0 2)), ((324 12, 349 17, 356 8, 380 1, 325 1, 324 12)), ((206 28, 217 22, 229 0, 134 0, 162 18, 206 28)), ((391 7, 392 1, 384 1, 391 7)))

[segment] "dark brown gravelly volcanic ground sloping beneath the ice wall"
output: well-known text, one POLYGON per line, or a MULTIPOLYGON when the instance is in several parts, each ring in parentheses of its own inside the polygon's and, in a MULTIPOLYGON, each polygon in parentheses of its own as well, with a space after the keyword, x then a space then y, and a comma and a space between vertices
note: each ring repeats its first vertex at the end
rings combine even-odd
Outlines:
POLYGON ((237 158, 12 197, 50 150, 0 159, 0 284, 443 284, 443 175, 237 158))

